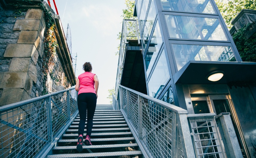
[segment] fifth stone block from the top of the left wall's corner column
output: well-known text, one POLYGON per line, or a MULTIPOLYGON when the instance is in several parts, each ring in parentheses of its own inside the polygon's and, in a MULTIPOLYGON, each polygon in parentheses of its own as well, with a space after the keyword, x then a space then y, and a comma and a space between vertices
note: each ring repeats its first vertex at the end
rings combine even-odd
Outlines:
POLYGON ((31 58, 13 58, 9 71, 10 72, 27 72, 31 58))

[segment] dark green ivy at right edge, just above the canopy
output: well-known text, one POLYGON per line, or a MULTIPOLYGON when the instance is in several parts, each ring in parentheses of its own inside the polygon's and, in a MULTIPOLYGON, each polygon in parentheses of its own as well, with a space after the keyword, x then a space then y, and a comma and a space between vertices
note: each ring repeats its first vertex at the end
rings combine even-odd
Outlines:
POLYGON ((256 33, 254 33, 249 39, 245 39, 245 33, 251 30, 252 26, 255 27, 256 23, 253 22, 244 26, 233 35, 233 41, 235 42, 242 61, 256 62, 256 33))

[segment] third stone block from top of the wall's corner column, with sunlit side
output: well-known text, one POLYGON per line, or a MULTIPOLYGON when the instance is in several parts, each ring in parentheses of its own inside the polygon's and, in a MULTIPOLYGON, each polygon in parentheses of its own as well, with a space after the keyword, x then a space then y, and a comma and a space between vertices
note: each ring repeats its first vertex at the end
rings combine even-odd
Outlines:
POLYGON ((18 44, 34 44, 39 51, 42 40, 40 39, 39 33, 37 31, 21 31, 18 44))

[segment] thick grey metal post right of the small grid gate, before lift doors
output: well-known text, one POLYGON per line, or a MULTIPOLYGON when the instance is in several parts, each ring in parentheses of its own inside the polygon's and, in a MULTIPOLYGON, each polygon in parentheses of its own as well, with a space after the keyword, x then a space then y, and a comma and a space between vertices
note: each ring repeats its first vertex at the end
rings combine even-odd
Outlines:
POLYGON ((243 157, 230 118, 230 113, 221 113, 215 118, 220 129, 220 134, 228 157, 243 157))

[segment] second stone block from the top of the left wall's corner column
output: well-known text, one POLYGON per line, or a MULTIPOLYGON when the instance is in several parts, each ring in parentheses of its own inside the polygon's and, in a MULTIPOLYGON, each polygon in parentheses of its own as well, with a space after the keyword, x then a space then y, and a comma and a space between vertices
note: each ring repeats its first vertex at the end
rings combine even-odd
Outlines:
POLYGON ((13 30, 14 31, 23 31, 23 30, 37 31, 39 30, 40 24, 42 27, 41 20, 33 20, 33 19, 16 20, 13 30))

